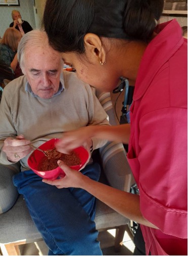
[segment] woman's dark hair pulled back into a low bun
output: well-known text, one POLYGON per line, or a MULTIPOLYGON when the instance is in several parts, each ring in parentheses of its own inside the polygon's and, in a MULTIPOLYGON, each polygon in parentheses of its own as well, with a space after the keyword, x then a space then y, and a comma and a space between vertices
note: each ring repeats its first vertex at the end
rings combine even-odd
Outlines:
POLYGON ((84 53, 86 33, 148 41, 164 0, 46 0, 43 26, 59 52, 84 53))

